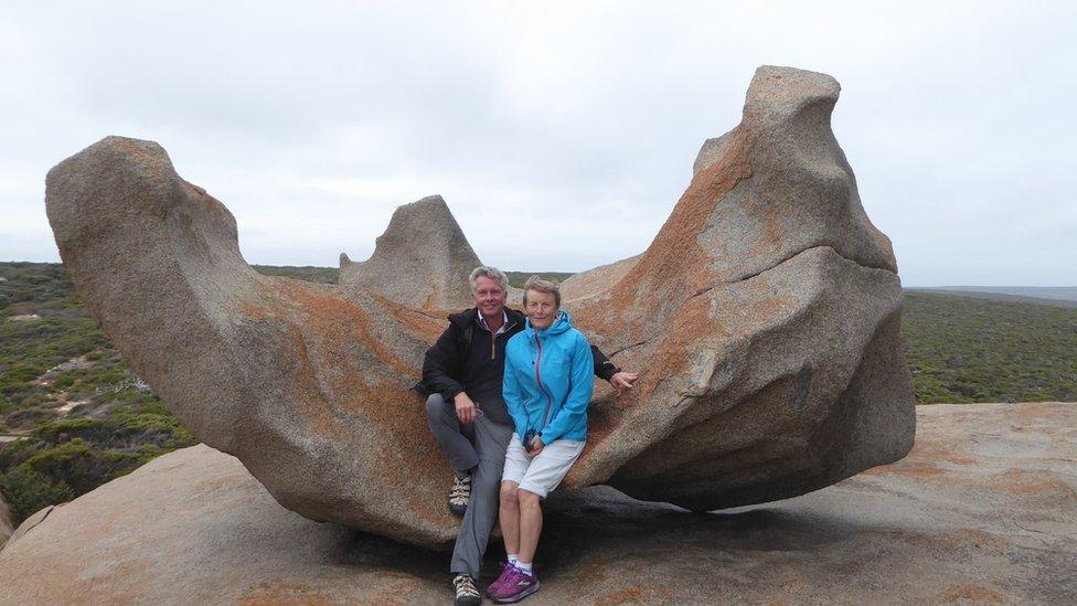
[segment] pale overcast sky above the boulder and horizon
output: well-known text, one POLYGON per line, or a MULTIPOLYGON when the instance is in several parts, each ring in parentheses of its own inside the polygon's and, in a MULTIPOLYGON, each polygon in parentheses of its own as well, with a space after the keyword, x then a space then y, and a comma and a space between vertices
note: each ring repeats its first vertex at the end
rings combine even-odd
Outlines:
POLYGON ((906 286, 1077 285, 1077 2, 659 4, 4 1, 0 261, 58 261, 45 172, 124 135, 249 263, 364 259, 440 193, 483 262, 586 269, 648 246, 774 64, 841 82, 906 286))

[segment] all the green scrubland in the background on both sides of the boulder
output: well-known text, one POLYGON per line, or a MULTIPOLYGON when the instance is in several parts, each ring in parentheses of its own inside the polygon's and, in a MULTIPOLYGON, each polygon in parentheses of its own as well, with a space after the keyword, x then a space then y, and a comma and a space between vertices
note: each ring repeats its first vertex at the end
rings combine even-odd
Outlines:
MULTIPOLYGON (((256 266, 333 284, 328 267, 256 266)), ((531 272, 508 272, 522 287, 531 272)), ((563 280, 572 274, 538 275, 563 280)), ((0 263, 0 492, 21 522, 195 444, 131 373, 62 265, 0 263)), ((1077 401, 1077 309, 907 293, 918 402, 1077 401)))

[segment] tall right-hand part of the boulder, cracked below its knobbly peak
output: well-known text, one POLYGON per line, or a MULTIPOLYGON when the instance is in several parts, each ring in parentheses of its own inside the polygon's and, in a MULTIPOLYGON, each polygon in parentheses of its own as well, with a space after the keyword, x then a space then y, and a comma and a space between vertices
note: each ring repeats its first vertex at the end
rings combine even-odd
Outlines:
POLYGON ((708 510, 908 451, 900 280, 830 129, 838 92, 823 74, 760 67, 740 125, 697 161, 651 246, 595 276, 597 291, 573 285, 577 322, 642 375, 594 403, 569 486, 708 510))

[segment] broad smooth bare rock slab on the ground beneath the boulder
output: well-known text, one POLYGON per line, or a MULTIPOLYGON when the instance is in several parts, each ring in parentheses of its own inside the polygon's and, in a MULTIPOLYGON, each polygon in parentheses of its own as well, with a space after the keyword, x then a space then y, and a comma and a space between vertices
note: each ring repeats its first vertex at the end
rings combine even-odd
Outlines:
MULTIPOLYGON (((793 500, 700 515, 607 487, 555 492, 527 602, 1071 604, 1077 404, 917 413, 906 459, 793 500)), ((0 603, 433 604, 447 570, 444 554, 306 520, 198 446, 10 543, 0 603)))

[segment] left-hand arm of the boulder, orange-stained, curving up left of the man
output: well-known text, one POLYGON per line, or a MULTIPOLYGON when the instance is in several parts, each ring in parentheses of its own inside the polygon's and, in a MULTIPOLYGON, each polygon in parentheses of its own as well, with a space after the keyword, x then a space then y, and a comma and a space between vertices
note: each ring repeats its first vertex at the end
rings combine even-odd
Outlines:
POLYGON ((259 275, 228 211, 153 142, 92 146, 50 171, 46 200, 87 309, 202 440, 312 519, 452 536, 445 464, 407 391, 436 320, 374 291, 259 275))

